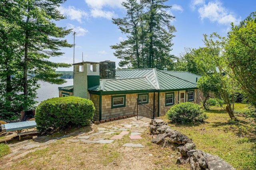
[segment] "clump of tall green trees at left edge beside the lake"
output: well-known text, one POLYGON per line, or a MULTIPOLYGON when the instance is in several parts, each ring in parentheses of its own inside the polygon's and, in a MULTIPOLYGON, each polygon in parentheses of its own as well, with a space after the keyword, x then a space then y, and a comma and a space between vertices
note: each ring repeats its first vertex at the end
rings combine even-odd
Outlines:
MULTIPOLYGON (((71 65, 48 61, 63 54, 60 47, 72 47, 60 40, 71 30, 54 23, 65 19, 56 10, 64 2, 0 0, 0 110, 6 114, 33 107, 38 80, 64 82, 57 78, 60 74, 55 74, 55 69, 71 65), (8 105, 11 109, 7 109, 8 105)), ((0 117, 8 117, 6 114, 0 117)))

